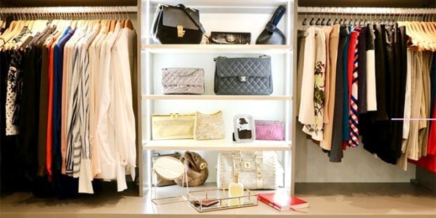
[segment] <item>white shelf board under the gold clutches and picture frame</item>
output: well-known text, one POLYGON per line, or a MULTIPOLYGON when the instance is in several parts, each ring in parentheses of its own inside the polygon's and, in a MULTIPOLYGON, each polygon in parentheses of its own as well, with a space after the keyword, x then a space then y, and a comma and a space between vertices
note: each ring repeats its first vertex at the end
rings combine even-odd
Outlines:
POLYGON ((290 142, 261 141, 236 143, 222 140, 152 140, 143 143, 144 150, 290 150, 290 142))

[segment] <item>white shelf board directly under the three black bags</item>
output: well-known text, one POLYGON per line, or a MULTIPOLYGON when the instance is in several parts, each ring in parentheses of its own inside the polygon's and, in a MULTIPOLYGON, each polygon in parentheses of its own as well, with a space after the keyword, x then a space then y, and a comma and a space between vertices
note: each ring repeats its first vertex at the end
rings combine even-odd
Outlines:
POLYGON ((142 45, 150 53, 287 53, 290 45, 151 44, 142 45))

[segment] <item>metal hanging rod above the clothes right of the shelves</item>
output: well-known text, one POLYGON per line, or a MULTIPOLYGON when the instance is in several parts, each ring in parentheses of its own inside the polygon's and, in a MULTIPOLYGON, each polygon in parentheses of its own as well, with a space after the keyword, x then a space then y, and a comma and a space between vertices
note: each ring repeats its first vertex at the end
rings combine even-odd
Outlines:
POLYGON ((368 7, 298 7, 298 13, 366 13, 428 15, 436 14, 436 8, 368 8, 368 7))

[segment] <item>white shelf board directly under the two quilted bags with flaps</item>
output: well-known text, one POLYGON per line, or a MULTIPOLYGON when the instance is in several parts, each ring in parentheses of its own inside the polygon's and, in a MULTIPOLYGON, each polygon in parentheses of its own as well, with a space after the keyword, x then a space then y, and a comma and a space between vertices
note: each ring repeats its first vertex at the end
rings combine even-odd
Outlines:
POLYGON ((143 95, 143 100, 292 101, 292 96, 143 95))

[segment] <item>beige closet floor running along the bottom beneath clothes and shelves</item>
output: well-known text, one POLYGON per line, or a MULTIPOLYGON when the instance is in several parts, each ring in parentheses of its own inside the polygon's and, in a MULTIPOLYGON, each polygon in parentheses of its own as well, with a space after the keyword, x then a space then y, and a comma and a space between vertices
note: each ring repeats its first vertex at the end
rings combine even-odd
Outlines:
POLYGON ((0 217, 436 217, 436 194, 414 184, 295 184, 302 212, 256 207, 198 213, 186 203, 155 206, 134 192, 105 191, 70 200, 2 193, 0 217), (254 211, 262 211, 257 213, 254 211))

